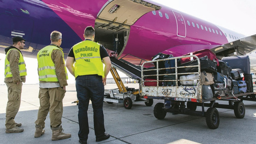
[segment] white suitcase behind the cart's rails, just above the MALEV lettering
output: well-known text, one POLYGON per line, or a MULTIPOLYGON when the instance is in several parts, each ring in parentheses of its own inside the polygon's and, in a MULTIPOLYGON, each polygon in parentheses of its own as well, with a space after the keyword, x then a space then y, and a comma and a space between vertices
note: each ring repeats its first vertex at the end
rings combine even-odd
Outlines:
POLYGON ((199 76, 198 74, 180 76, 180 80, 188 80, 188 81, 180 81, 180 84, 184 86, 196 86, 197 83, 199 82, 199 76))

